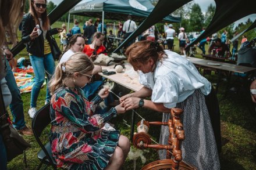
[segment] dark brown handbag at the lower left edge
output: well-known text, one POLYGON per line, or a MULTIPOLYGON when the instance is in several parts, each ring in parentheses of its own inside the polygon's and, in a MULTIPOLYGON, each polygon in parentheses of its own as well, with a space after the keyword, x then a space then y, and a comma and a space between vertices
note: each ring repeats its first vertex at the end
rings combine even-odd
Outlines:
POLYGON ((30 144, 23 139, 19 132, 8 121, 9 115, 3 102, 2 89, 0 86, 0 132, 5 143, 7 161, 11 161, 17 155, 23 154, 30 144))

